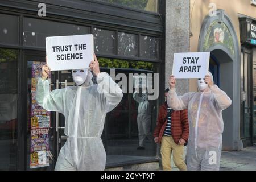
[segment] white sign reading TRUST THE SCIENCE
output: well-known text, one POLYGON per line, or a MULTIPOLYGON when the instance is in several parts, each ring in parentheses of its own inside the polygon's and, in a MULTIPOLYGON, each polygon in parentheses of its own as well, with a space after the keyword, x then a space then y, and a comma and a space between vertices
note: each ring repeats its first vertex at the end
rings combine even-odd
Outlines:
POLYGON ((92 34, 46 38, 47 64, 51 71, 89 68, 93 52, 92 34))

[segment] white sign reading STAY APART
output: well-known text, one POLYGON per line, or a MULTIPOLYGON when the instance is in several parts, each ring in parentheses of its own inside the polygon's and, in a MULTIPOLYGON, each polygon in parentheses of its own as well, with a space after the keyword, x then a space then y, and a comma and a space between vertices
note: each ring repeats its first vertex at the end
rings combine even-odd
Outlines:
POLYGON ((175 78, 204 78, 209 71, 210 52, 186 52, 174 54, 172 75, 175 78))

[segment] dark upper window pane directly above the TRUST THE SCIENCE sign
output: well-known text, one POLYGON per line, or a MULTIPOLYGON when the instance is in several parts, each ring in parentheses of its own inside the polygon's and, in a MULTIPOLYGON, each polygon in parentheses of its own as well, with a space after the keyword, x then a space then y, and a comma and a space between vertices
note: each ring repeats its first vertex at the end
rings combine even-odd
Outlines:
POLYGON ((90 33, 90 27, 35 18, 24 18, 23 27, 24 46, 43 48, 46 47, 47 36, 82 35, 90 33))

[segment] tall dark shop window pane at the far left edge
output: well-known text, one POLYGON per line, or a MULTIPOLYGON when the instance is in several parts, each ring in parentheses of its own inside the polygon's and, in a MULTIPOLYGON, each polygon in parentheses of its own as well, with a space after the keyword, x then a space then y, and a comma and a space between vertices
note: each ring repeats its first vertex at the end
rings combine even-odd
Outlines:
POLYGON ((0 49, 0 170, 17 168, 18 51, 0 49))

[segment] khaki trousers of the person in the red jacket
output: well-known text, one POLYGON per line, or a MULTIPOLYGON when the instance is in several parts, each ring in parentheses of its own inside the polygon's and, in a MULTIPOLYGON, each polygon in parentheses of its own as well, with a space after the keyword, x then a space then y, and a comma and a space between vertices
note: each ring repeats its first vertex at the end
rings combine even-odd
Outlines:
POLYGON ((180 171, 187 171, 187 166, 182 158, 184 146, 180 146, 174 142, 172 137, 162 137, 161 156, 162 167, 164 171, 171 171, 171 155, 173 155, 174 163, 180 171), (173 151, 173 154, 172 154, 173 151))

